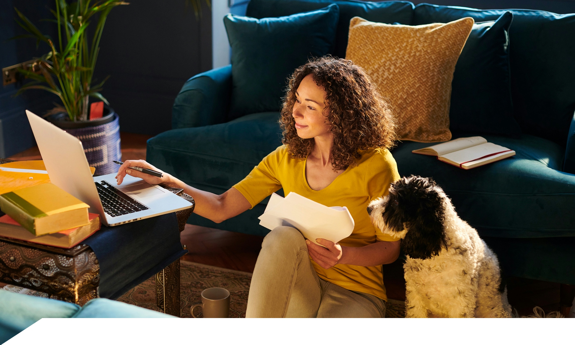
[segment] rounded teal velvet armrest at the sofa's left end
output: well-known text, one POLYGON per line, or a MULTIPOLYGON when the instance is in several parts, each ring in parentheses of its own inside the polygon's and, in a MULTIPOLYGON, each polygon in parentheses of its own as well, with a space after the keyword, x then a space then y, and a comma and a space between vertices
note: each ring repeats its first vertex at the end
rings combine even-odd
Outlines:
POLYGON ((231 89, 232 65, 188 79, 172 107, 172 128, 201 127, 225 122, 231 89))

